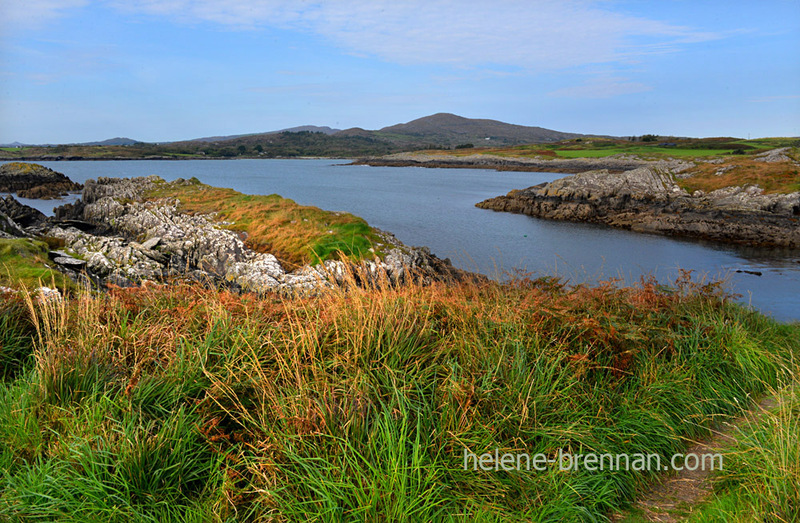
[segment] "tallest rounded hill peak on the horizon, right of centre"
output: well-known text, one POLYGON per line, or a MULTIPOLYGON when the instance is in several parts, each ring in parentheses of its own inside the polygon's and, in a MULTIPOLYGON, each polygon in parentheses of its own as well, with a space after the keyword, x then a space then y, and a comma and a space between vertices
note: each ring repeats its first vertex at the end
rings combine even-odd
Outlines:
MULTIPOLYGON (((355 135, 362 135, 362 132, 361 129, 342 131, 342 133, 355 135)), ((497 120, 464 118, 449 113, 438 113, 408 123, 367 132, 371 133, 374 138, 382 138, 393 143, 424 143, 444 146, 466 143, 472 143, 475 146, 546 143, 585 136, 553 131, 543 127, 508 124, 497 120)))

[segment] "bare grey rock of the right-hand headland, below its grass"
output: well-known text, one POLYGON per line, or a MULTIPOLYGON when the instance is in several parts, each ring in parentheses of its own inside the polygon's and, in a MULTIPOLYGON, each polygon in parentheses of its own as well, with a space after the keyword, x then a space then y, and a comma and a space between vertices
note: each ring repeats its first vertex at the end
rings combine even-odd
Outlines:
POLYGON ((689 194, 664 166, 591 171, 477 204, 484 209, 594 222, 640 232, 800 248, 800 193, 758 187, 689 194))

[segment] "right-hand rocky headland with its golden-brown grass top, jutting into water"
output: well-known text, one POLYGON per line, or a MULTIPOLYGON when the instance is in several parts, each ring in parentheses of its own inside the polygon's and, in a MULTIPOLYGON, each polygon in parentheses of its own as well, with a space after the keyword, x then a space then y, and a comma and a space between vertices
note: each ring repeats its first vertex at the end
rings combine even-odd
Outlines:
MULTIPOLYGON (((514 190, 476 205, 638 232, 800 249, 797 158, 797 148, 788 147, 744 160, 608 158, 597 162, 599 170, 514 190)), ((585 165, 595 162, 585 160, 585 165)), ((573 160, 568 168, 579 165, 573 160)))

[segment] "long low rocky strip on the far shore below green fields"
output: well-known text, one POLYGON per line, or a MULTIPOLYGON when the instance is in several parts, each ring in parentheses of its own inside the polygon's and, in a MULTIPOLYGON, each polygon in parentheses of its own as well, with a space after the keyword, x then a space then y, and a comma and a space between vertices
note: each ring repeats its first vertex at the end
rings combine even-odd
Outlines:
MULTIPOLYGON (((442 154, 398 153, 378 158, 362 158, 354 165, 371 165, 375 167, 432 167, 456 169, 496 169, 498 171, 532 171, 553 173, 581 173, 591 170, 605 169, 609 172, 621 173, 638 167, 652 165, 639 158, 616 155, 606 158, 507 158, 490 154, 473 154, 455 156, 442 154)), ((658 162, 665 169, 680 172, 691 166, 681 160, 658 162)))

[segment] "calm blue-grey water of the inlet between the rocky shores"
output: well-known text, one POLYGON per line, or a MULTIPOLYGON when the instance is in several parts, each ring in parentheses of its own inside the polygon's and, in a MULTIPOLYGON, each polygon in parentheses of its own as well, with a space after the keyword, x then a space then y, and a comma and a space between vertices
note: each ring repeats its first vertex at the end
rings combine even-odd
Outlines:
MULTIPOLYGON (((560 174, 347 166, 337 160, 42 163, 81 183, 98 176, 157 174, 166 180, 195 176, 245 193, 280 194, 301 204, 362 216, 409 245, 427 245, 459 267, 495 277, 521 270, 572 282, 608 277, 635 282, 653 273, 670 281, 679 269, 691 269, 697 275, 727 278, 743 302, 779 320, 800 320, 800 252, 675 240, 474 206, 560 174), (762 276, 737 270, 760 271, 762 276)), ((52 213, 53 206, 63 201, 25 203, 52 213)))

